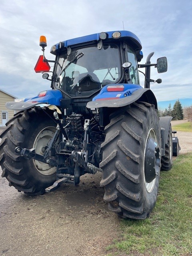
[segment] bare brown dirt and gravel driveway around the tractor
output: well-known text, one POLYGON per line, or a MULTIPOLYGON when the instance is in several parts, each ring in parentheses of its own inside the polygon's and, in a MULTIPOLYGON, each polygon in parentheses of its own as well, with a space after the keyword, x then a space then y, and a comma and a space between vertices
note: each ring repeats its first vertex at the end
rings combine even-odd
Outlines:
MULTIPOLYGON (((176 136, 180 154, 192 151, 191 133, 176 136)), ((26 196, 0 178, 0 256, 105 255, 120 239, 120 219, 102 199, 101 178, 86 174, 79 186, 62 184, 42 196, 26 196)))

